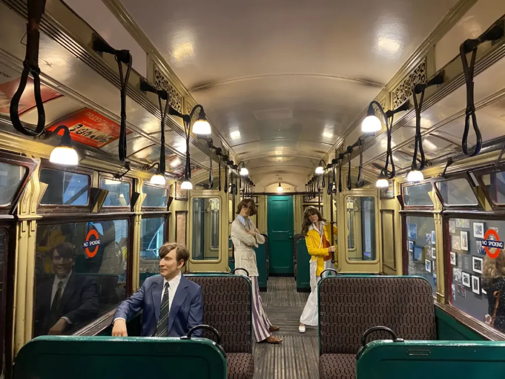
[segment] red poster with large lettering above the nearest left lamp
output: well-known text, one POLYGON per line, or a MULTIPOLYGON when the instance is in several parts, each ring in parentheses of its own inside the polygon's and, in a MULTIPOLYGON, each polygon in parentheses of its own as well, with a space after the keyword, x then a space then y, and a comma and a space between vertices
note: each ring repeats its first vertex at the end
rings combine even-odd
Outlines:
MULTIPOLYGON (((119 137, 118 123, 89 108, 65 116, 48 127, 47 131, 53 131, 62 124, 68 126, 74 141, 93 148, 101 148, 119 137)), ((62 134, 63 132, 60 133, 62 134)))

